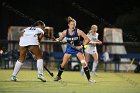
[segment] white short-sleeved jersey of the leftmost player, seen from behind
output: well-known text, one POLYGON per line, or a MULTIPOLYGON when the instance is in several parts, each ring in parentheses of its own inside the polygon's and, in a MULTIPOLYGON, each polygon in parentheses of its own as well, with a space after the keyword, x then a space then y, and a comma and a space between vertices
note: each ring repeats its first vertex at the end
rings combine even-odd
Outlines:
POLYGON ((44 34, 44 31, 39 27, 28 27, 23 30, 23 35, 20 37, 20 46, 39 45, 38 34, 44 34))

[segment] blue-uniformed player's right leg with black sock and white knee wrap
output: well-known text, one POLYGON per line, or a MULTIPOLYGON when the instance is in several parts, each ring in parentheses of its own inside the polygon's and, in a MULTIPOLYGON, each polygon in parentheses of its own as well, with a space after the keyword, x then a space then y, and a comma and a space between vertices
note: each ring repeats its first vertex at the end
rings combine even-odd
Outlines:
POLYGON ((93 81, 90 77, 90 71, 89 71, 89 68, 88 68, 88 65, 87 65, 87 62, 85 61, 84 59, 84 56, 81 52, 77 53, 77 57, 78 59, 81 61, 81 64, 84 68, 84 72, 85 72, 85 75, 88 79, 89 82, 92 82, 92 83, 95 83, 95 81, 93 81))

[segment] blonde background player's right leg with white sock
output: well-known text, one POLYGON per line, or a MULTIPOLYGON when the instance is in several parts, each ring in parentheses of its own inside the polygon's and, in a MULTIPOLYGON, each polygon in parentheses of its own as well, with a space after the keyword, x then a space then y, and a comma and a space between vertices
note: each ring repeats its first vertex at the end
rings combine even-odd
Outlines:
POLYGON ((93 72, 93 75, 97 75, 96 74, 96 68, 97 68, 97 65, 98 65, 98 53, 95 52, 92 57, 94 58, 94 62, 93 62, 93 66, 92 66, 92 72, 93 72))

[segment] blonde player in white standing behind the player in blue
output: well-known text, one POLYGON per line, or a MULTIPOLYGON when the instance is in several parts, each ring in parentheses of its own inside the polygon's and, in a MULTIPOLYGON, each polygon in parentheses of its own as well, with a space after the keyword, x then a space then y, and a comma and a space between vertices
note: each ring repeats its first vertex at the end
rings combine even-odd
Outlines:
MULTIPOLYGON (((97 33, 98 27, 96 25, 91 26, 91 30, 87 34, 88 38, 90 39, 89 44, 87 45, 87 48, 85 49, 85 59, 86 62, 89 62, 90 55, 94 58, 93 66, 92 66, 92 72, 93 75, 96 76, 96 67, 98 64, 98 52, 96 48, 96 44, 102 44, 100 40, 98 40, 98 33, 97 33)), ((82 75, 83 71, 81 70, 82 75)))

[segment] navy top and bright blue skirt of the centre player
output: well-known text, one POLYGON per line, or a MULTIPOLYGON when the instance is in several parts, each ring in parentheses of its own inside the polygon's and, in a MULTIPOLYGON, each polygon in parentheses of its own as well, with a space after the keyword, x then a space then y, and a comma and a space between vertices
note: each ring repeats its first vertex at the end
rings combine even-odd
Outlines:
MULTIPOLYGON (((66 40, 67 40, 67 43, 69 43, 73 46, 80 46, 81 45, 80 44, 80 36, 78 36, 77 29, 74 30, 74 33, 72 35, 70 35, 69 30, 67 29, 66 40)), ((72 48, 71 46, 67 45, 65 53, 76 55, 78 52, 82 52, 82 51, 77 50, 77 49, 72 48)))

